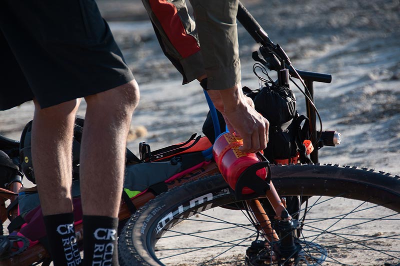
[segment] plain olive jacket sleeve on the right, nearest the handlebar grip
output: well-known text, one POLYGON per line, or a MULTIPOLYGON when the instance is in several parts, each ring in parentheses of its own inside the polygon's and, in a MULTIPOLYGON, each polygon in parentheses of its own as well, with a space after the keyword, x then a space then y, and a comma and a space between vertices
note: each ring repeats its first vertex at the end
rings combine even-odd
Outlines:
POLYGON ((208 89, 240 82, 236 14, 238 0, 192 0, 208 89))

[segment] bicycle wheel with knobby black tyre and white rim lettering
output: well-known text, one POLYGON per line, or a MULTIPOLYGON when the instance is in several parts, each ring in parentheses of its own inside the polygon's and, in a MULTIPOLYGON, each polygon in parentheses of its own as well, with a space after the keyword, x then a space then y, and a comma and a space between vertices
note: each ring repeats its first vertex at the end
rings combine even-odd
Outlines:
POLYGON ((306 202, 299 210, 301 251, 295 259, 279 261, 266 247, 254 258, 249 248, 256 227, 216 175, 159 195, 136 212, 119 236, 120 265, 400 263, 400 177, 319 164, 272 166, 271 172, 280 196, 306 202))

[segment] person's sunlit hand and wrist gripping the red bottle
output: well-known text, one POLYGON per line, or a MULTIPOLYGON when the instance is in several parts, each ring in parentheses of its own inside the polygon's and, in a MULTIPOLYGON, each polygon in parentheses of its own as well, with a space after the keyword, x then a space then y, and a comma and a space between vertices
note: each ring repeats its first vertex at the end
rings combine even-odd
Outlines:
POLYGON ((251 99, 243 95, 240 87, 239 83, 229 89, 208 92, 222 113, 228 130, 243 139, 243 146, 239 149, 255 153, 266 148, 269 122, 255 111, 251 99))

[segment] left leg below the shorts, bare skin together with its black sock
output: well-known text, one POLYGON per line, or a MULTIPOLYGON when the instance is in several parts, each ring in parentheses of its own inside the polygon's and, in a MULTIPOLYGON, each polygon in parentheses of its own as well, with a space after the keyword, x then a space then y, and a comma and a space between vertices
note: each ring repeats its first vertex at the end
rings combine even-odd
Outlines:
POLYGON ((73 232, 71 199, 73 125, 79 102, 72 100, 40 109, 35 101, 32 163, 55 266, 81 263, 73 232), (60 234, 58 227, 72 230, 60 234))

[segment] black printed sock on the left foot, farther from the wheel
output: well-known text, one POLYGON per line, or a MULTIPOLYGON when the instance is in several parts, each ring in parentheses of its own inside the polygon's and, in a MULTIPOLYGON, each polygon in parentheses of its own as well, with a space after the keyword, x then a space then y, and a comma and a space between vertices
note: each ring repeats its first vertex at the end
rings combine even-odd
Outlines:
POLYGON ((43 220, 54 266, 81 265, 73 226, 73 213, 43 216, 43 220))

